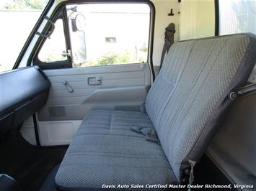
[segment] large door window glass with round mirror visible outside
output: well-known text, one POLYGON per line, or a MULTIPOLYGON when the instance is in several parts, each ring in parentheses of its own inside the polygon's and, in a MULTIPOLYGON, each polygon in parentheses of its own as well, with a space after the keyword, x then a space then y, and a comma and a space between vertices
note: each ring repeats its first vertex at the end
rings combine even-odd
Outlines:
POLYGON ((148 61, 147 4, 69 5, 74 67, 148 61))

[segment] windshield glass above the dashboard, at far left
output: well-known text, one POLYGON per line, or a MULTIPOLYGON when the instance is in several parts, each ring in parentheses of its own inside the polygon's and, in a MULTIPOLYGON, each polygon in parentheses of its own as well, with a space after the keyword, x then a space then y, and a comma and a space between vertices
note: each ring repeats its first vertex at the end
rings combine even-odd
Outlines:
POLYGON ((0 1, 0 72, 12 70, 48 0, 0 1))

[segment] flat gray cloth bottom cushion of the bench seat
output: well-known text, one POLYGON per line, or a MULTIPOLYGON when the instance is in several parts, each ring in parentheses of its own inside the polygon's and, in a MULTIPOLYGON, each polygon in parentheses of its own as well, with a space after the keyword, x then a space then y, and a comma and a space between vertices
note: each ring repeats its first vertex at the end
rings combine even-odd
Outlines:
POLYGON ((104 185, 131 189, 138 184, 147 190, 146 185, 177 183, 162 147, 131 131, 132 125, 152 126, 141 112, 91 111, 58 169, 58 189, 100 190, 104 185))

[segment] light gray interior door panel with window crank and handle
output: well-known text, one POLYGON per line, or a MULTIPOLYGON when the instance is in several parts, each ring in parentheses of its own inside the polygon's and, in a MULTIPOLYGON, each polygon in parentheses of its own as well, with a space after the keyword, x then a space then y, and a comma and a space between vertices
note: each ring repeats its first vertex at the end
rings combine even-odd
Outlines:
POLYGON ((151 84, 148 63, 44 72, 51 88, 48 102, 37 113, 42 145, 68 144, 92 109, 138 109, 151 84))

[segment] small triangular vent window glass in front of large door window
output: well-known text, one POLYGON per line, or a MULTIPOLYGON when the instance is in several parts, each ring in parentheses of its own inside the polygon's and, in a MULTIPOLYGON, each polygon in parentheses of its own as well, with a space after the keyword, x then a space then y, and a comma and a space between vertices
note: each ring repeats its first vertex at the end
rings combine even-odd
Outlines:
POLYGON ((62 19, 58 19, 56 21, 53 34, 50 35, 50 38, 46 39, 38 54, 38 58, 42 62, 67 60, 66 41, 62 19))

